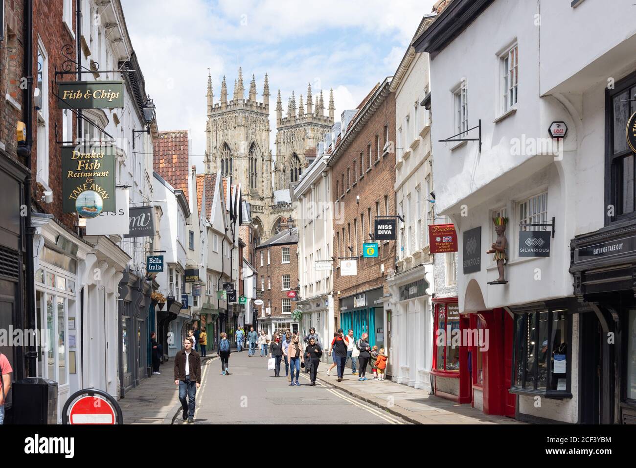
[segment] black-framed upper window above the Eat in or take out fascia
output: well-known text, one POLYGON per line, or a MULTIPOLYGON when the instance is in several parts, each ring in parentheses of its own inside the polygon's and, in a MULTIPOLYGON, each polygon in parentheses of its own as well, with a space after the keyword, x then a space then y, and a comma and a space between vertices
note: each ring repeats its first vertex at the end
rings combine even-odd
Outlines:
POLYGON ((605 92, 605 122, 609 122, 605 127, 605 180, 609 183, 605 205, 614 206, 614 216, 607 218, 614 222, 636 216, 636 155, 625 138, 627 121, 636 111, 636 73, 605 92))

